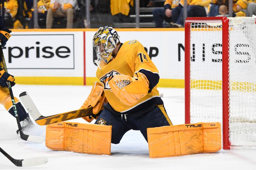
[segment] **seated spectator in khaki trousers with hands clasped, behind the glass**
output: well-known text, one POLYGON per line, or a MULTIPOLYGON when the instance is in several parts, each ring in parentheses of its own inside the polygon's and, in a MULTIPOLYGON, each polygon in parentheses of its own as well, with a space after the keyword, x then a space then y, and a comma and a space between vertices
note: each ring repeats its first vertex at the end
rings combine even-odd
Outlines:
POLYGON ((46 28, 52 28, 53 18, 67 18, 67 28, 72 28, 75 5, 76 0, 51 0, 46 17, 46 28))

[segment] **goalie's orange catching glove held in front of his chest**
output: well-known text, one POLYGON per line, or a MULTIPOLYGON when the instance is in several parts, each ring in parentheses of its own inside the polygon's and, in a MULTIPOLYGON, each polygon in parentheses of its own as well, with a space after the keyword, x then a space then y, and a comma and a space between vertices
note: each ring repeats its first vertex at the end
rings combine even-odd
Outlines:
POLYGON ((118 100, 127 106, 135 105, 149 90, 148 78, 140 72, 135 73, 133 77, 118 74, 108 84, 118 100))

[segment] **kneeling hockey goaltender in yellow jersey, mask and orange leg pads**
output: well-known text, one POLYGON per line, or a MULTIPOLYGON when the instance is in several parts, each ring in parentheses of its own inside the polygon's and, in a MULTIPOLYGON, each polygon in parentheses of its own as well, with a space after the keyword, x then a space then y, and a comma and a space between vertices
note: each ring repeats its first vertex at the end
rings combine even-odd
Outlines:
POLYGON ((221 149, 219 122, 172 125, 156 85, 159 74, 137 40, 121 43, 112 27, 100 27, 93 37, 98 65, 89 97, 80 109, 95 124, 59 122, 47 125, 46 146, 89 154, 111 154, 128 130, 140 130, 148 142, 149 157, 161 158, 221 149), (58 133, 56 133, 58 132, 58 133))

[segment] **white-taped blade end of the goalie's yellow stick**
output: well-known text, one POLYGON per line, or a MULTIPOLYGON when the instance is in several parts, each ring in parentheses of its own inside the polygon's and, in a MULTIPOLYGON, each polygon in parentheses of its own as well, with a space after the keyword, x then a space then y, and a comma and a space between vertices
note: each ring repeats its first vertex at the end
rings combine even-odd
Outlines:
POLYGON ((20 93, 20 100, 28 110, 28 113, 32 116, 34 120, 41 116, 36 105, 34 104, 33 100, 30 98, 27 92, 20 93))

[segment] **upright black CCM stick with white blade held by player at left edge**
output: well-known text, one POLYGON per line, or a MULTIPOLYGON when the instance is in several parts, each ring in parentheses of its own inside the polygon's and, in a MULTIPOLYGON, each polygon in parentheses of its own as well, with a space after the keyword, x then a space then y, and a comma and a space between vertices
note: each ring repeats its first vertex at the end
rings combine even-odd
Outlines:
MULTIPOLYGON (((5 72, 7 72, 7 67, 6 67, 6 63, 5 63, 5 60, 4 60, 4 53, 3 53, 1 42, 0 42, 0 55, 1 55, 1 61, 3 63, 3 67, 4 67, 3 69, 4 69, 5 72)), ((19 133, 20 138, 23 139, 23 140, 29 141, 29 142, 34 142, 34 143, 42 143, 42 142, 44 142, 44 138, 43 137, 26 135, 21 130, 21 125, 20 125, 20 120, 19 120, 19 116, 18 116, 18 111, 16 109, 16 104, 15 104, 15 100, 14 100, 13 93, 12 93, 12 87, 11 87, 10 82, 7 81, 6 83, 8 85, 10 96, 11 96, 11 99, 12 99, 12 107, 13 107, 13 111, 15 113, 15 118, 16 118, 16 121, 17 121, 17 124, 18 124, 19 131, 20 131, 20 133, 19 133)))

